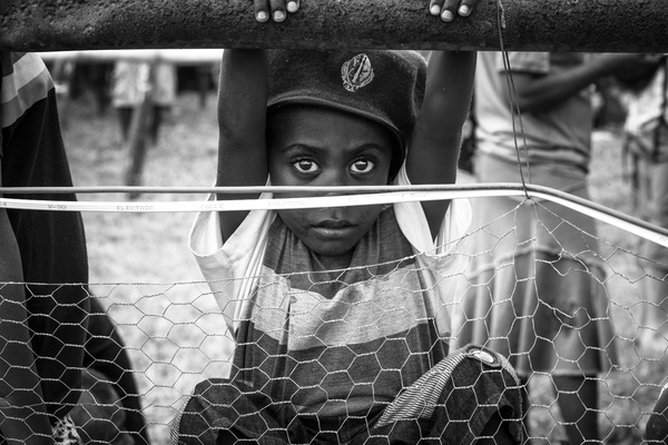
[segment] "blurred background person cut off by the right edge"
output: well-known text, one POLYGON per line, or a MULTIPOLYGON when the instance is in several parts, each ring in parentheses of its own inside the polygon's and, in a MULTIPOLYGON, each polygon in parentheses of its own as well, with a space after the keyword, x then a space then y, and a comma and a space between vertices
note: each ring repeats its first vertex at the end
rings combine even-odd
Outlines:
MULTIPOLYGON (((667 58, 647 55, 616 76, 626 87, 625 151, 630 159, 633 208, 649 222, 668 228, 668 77, 667 58)), ((645 273, 636 344, 645 355, 661 357, 668 347, 668 249, 642 240, 645 273)))

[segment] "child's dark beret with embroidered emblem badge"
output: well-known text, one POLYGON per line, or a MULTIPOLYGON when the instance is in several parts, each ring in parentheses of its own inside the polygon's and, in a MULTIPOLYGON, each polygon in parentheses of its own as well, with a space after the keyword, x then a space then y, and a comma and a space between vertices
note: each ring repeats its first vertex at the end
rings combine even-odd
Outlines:
POLYGON ((424 97, 426 61, 415 51, 269 51, 267 107, 315 105, 357 115, 396 137, 391 177, 401 167, 424 97))

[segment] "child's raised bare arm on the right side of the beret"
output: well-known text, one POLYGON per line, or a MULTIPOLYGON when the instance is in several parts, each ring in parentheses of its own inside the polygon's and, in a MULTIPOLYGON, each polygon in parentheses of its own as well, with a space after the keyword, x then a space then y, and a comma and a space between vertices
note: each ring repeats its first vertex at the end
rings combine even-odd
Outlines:
MULTIPOLYGON (((428 71, 420 117, 406 155, 412 184, 453 184, 461 130, 471 106, 475 52, 434 51, 428 71)), ((439 231, 450 201, 423 202, 432 237, 439 231)))

